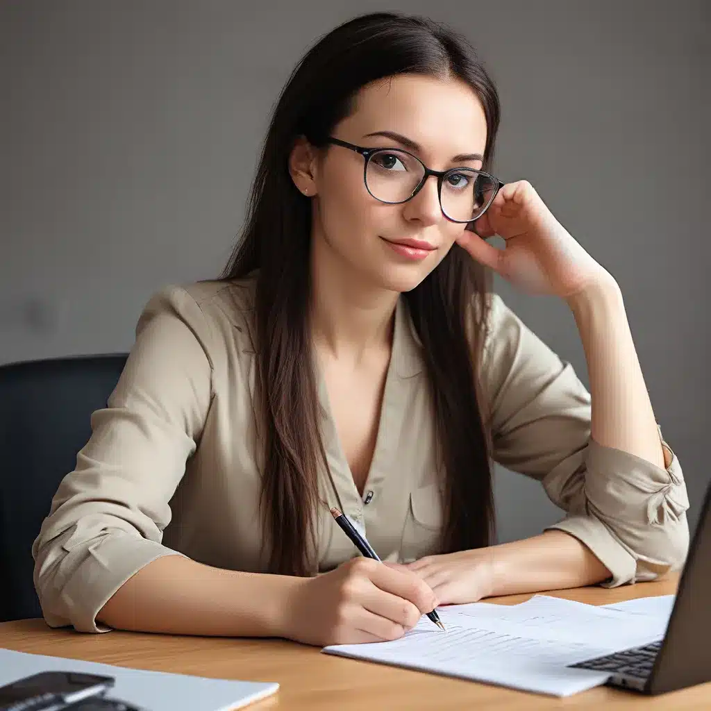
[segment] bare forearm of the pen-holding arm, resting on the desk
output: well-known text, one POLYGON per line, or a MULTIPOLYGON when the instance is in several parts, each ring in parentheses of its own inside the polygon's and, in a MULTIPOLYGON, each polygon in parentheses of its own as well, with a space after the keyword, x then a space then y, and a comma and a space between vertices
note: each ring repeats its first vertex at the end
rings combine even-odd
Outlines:
POLYGON ((284 636, 287 599, 303 581, 166 555, 129 578, 97 620, 114 629, 166 634, 284 636))

